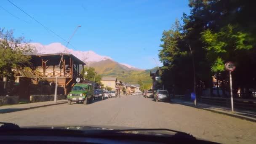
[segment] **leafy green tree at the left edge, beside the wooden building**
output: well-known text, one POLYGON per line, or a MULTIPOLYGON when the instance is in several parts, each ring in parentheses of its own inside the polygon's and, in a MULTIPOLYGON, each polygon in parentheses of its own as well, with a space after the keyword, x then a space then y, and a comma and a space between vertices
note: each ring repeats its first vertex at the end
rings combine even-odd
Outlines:
POLYGON ((29 64, 33 47, 24 37, 13 37, 13 31, 0 28, 0 77, 12 77, 12 69, 29 64))

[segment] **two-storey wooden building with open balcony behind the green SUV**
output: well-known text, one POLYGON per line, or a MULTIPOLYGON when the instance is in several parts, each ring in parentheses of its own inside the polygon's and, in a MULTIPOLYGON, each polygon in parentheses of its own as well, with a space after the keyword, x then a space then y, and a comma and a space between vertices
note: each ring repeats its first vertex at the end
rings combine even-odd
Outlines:
POLYGON ((64 94, 71 91, 77 77, 80 78, 81 82, 83 81, 85 63, 72 54, 32 55, 30 63, 29 67, 36 77, 35 81, 38 77, 49 83, 56 83, 56 77, 58 77, 57 83, 64 88, 64 94))

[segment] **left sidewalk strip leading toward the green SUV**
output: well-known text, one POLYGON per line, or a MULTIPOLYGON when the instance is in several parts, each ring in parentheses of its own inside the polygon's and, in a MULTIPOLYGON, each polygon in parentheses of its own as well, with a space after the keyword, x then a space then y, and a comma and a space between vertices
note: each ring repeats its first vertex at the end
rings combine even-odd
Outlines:
POLYGON ((44 102, 35 102, 30 104, 13 104, 13 105, 1 106, 0 114, 8 113, 8 112, 17 112, 17 111, 27 110, 27 109, 35 109, 39 107, 48 107, 48 106, 53 106, 57 104, 65 104, 65 103, 67 103, 67 100, 62 99, 62 100, 58 100, 57 103, 54 103, 54 101, 44 101, 44 102))

